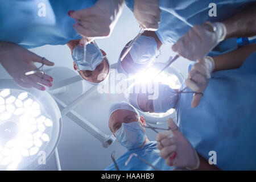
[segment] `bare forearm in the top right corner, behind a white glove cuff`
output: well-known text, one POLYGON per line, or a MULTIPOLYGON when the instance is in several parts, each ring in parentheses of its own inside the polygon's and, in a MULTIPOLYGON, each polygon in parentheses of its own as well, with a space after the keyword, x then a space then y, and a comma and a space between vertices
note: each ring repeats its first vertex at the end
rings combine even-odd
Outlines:
POLYGON ((223 23, 226 27, 226 39, 250 37, 256 35, 256 3, 250 5, 223 23))

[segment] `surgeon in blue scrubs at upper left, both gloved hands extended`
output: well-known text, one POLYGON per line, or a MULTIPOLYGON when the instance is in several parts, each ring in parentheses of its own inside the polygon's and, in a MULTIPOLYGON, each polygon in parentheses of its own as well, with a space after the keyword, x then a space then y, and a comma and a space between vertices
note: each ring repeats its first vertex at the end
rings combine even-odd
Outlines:
MULTIPOLYGON (((1 64, 20 86, 45 90, 44 86, 52 86, 52 77, 40 72, 33 75, 24 73, 34 70, 35 62, 48 66, 54 64, 27 49, 47 44, 70 43, 68 46, 71 47, 72 44, 73 50, 75 43, 79 44, 80 40, 83 40, 83 44, 80 44, 84 46, 92 42, 94 38, 106 38, 111 34, 121 15, 123 3, 123 0, 1 1, 1 64)), ((92 47, 90 46, 91 49, 88 49, 92 50, 92 47)), ((98 51, 98 58, 104 57, 105 53, 99 48, 94 47, 95 50, 98 51)), ((89 54, 92 55, 93 52, 89 54)), ((74 55, 72 56, 74 58, 74 55)), ((92 77, 79 72, 82 78, 92 83, 98 83, 102 81, 102 78, 105 79, 108 76, 109 64, 106 59, 101 61, 97 59, 95 61, 97 64, 92 63, 94 60, 88 61, 90 69, 86 71, 90 74, 86 74, 92 75, 92 77), (101 76, 100 80, 96 80, 99 70, 107 74, 105 77, 101 76)))

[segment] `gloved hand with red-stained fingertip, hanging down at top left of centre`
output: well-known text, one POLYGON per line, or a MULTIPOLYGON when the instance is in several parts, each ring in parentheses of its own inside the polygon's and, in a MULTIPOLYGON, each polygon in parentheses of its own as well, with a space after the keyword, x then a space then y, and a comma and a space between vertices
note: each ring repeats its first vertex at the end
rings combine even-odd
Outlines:
POLYGON ((75 30, 92 42, 94 38, 105 38, 111 34, 122 13, 123 4, 124 0, 98 0, 90 8, 69 11, 69 15, 76 20, 73 25, 75 30))

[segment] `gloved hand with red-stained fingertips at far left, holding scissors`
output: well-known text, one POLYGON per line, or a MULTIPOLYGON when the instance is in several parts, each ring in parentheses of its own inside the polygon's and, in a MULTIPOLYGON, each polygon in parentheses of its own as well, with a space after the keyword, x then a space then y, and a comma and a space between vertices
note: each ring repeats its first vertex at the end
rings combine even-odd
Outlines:
POLYGON ((36 69, 35 62, 53 66, 54 63, 36 55, 14 43, 1 42, 0 61, 14 81, 24 88, 46 90, 42 85, 52 86, 53 78, 47 74, 37 72, 26 76, 25 73, 36 69), (42 84, 42 85, 40 85, 42 84))

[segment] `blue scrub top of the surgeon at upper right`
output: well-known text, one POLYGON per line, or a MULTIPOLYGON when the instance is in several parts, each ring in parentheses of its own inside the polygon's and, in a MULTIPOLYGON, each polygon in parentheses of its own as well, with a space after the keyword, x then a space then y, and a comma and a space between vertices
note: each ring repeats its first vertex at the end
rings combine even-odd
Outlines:
MULTIPOLYGON (((255 0, 159 0, 162 11, 159 29, 156 31, 160 41, 164 44, 174 44, 180 36, 189 31, 191 25, 209 22, 222 22, 238 14, 255 0), (216 3, 217 16, 208 15, 210 3, 216 3)), ((126 0, 131 11, 134 9, 134 0, 126 0)), ((214 48, 209 56, 217 56, 237 48, 237 39, 227 39, 214 48)))

